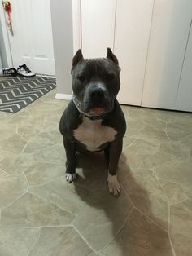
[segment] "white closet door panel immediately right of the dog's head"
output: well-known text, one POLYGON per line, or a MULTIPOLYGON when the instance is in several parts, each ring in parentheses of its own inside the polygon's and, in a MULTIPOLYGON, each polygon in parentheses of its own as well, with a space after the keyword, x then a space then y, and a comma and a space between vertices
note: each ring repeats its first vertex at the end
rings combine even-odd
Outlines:
POLYGON ((115 54, 119 60, 121 104, 141 105, 153 0, 118 0, 115 54))

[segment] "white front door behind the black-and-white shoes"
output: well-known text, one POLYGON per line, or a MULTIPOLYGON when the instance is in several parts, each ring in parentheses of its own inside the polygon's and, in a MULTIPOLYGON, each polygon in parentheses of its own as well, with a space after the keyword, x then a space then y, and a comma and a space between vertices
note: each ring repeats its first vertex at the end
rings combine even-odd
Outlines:
POLYGON ((14 67, 55 75, 49 0, 11 0, 14 35, 9 32, 14 67))

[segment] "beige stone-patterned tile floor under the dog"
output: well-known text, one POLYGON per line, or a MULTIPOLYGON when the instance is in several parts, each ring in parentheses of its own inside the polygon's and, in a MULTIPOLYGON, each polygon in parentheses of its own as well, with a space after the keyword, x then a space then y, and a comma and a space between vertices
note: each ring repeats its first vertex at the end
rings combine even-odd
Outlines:
POLYGON ((123 106, 122 194, 107 192, 102 154, 64 178, 55 90, 0 112, 0 255, 190 256, 192 114, 123 106))

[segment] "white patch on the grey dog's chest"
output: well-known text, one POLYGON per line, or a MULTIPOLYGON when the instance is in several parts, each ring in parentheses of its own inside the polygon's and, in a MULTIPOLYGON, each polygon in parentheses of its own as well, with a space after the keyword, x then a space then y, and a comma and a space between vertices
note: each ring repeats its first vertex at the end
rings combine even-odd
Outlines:
POLYGON ((89 151, 97 151, 103 143, 115 139, 117 131, 109 126, 102 126, 102 120, 90 120, 83 117, 81 125, 73 131, 74 137, 85 144, 89 151))

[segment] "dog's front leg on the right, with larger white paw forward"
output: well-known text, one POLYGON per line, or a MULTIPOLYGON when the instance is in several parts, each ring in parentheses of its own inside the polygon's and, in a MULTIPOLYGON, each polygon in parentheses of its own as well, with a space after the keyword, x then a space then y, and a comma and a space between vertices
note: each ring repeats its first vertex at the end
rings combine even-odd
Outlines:
POLYGON ((109 192, 114 196, 120 195, 120 183, 117 180, 117 166, 122 152, 122 139, 116 139, 109 146, 109 170, 108 170, 108 186, 109 192))

